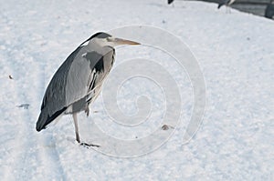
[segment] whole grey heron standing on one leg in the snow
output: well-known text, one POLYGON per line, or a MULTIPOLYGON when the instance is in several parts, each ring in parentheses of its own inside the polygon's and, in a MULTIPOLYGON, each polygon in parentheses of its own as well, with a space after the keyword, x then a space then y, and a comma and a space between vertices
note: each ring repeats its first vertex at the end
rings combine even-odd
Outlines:
POLYGON ((140 44, 100 32, 90 36, 68 55, 47 85, 37 120, 38 132, 59 116, 71 114, 76 140, 81 143, 77 114, 85 111, 89 116, 90 103, 100 95, 103 81, 111 71, 114 46, 117 45, 140 44))

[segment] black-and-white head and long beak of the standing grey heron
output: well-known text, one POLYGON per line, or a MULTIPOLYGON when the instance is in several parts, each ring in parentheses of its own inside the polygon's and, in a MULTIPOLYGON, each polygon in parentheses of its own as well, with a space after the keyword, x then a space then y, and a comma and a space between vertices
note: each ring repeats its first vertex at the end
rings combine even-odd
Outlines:
POLYGON ((110 45, 112 47, 117 45, 140 45, 137 42, 131 40, 121 39, 113 37, 112 35, 100 32, 90 37, 90 42, 98 44, 100 46, 110 45))

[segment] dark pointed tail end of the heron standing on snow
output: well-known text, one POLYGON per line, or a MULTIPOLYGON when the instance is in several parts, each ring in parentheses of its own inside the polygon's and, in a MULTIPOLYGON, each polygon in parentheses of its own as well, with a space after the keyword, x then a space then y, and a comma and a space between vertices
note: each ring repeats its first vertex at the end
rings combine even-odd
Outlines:
POLYGON ((64 107, 61 110, 54 113, 52 116, 49 116, 47 107, 44 107, 41 110, 40 116, 37 120, 37 131, 41 131, 42 129, 45 129, 48 124, 50 124, 54 119, 60 116, 66 109, 67 107, 64 107))

